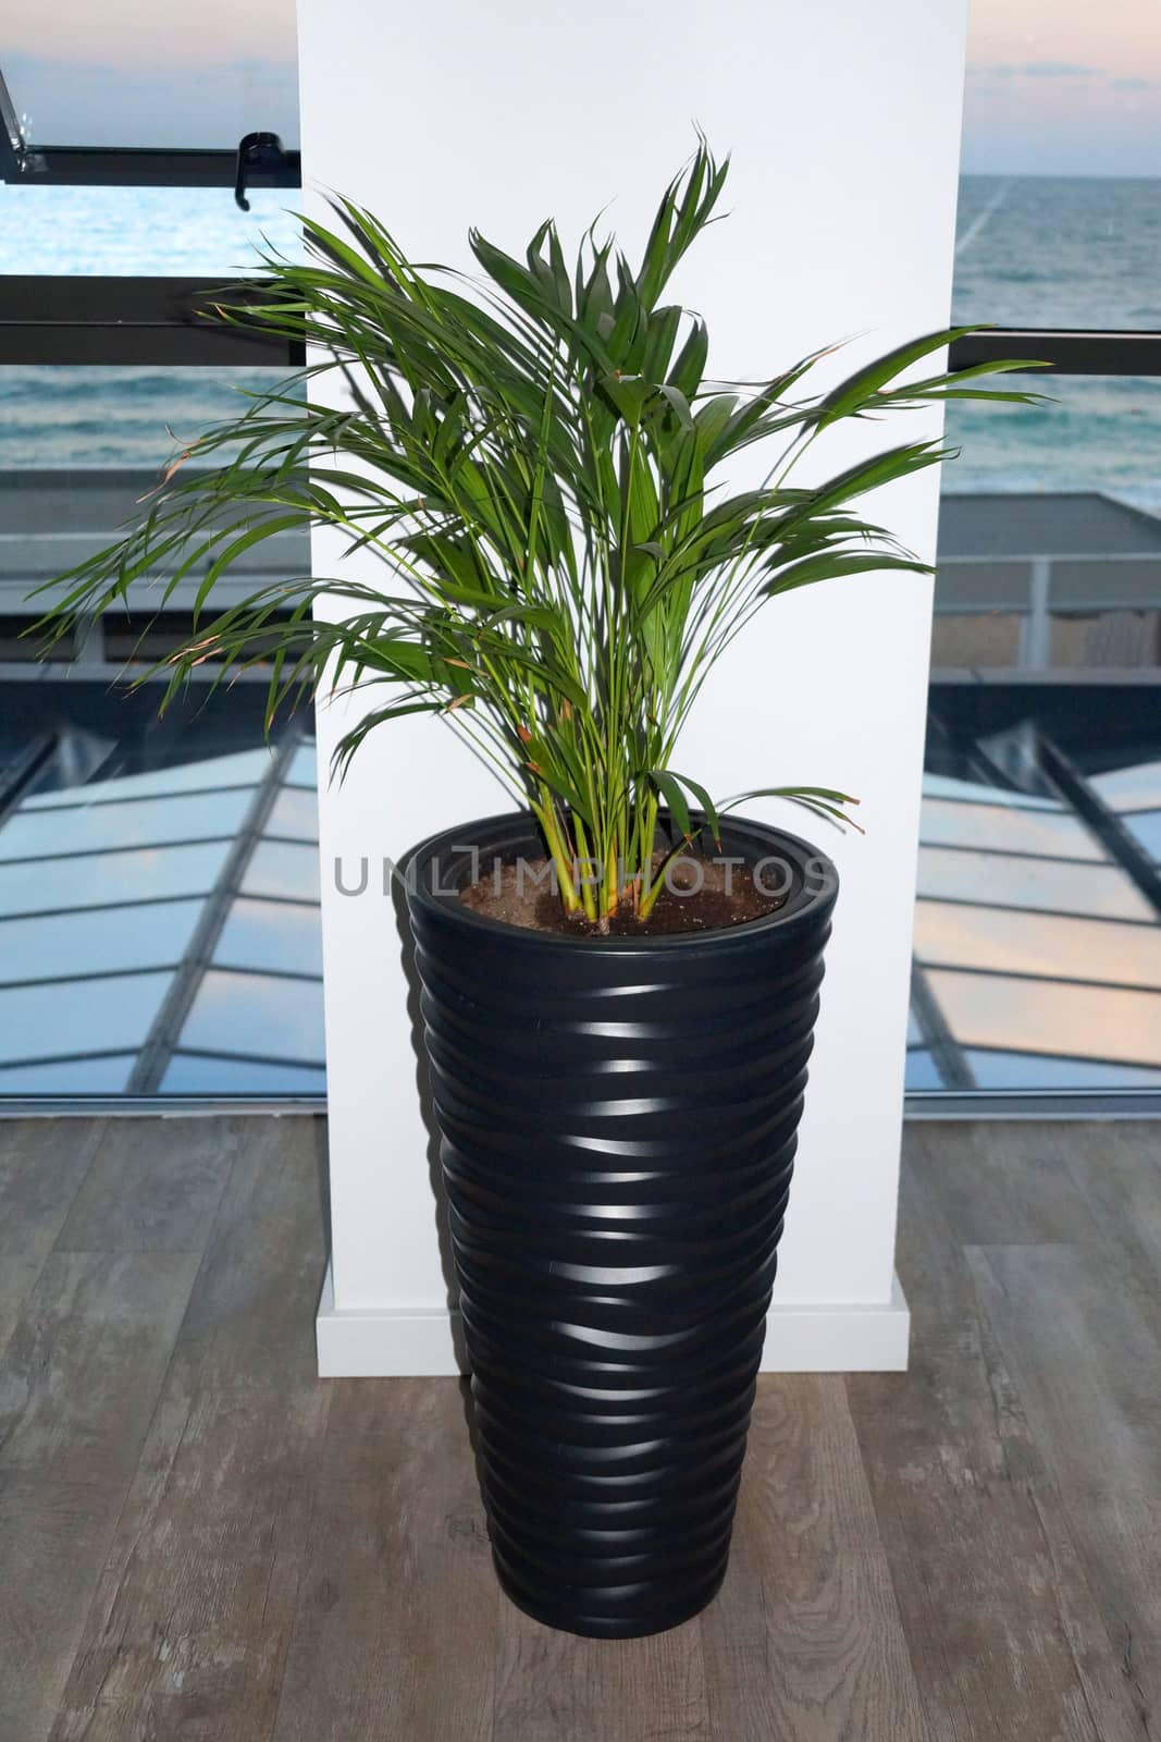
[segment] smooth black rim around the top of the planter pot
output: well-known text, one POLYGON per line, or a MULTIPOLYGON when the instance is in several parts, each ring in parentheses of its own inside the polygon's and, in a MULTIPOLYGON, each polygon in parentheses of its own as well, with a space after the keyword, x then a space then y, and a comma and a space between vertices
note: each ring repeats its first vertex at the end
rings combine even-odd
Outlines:
MULTIPOLYGON (((661 810, 660 817, 667 817, 668 812, 661 810)), ((473 908, 466 908, 460 897, 458 888, 451 890, 432 890, 425 887, 421 874, 414 876, 414 883, 409 881, 409 873, 416 868, 416 873, 425 862, 430 862, 442 852, 466 861, 466 841, 475 847, 493 845, 486 843, 486 834, 494 834, 498 850, 505 845, 515 843, 515 838, 524 833, 526 836, 536 834, 536 820, 529 810, 508 810, 500 812, 491 817, 475 817, 468 822, 453 824, 451 829, 439 829, 435 834, 428 834, 416 847, 409 848, 399 861, 397 871, 404 878, 404 888, 407 895, 407 908, 411 915, 416 913, 428 915, 432 918, 453 922, 461 925, 466 932, 477 932, 491 935, 494 939, 507 939, 513 948, 524 949, 571 949, 587 951, 590 956, 599 955, 653 955, 656 951, 668 953, 672 949, 681 951, 717 951, 722 948, 745 948, 752 944, 757 935, 766 932, 782 932, 783 935, 794 934, 799 928, 815 927, 820 918, 825 918, 834 908, 839 892, 839 873, 834 861, 823 854, 813 841, 802 840, 799 834, 790 834, 787 829, 775 827, 771 822, 759 822, 754 817, 722 817, 722 834, 729 836, 748 834, 759 836, 764 845, 773 845, 773 850, 783 859, 789 859, 794 871, 797 873, 797 887, 787 904, 778 908, 775 913, 759 915, 755 920, 742 920, 738 925, 721 925, 714 930, 705 932, 663 932, 646 937, 594 937, 587 934, 583 937, 569 937, 567 932, 538 932, 527 925, 512 925, 508 920, 494 920, 489 915, 477 913, 473 908), (466 836, 466 841, 465 841, 466 836), (816 876, 813 885, 808 885, 804 866, 811 864, 816 868, 816 876)))

